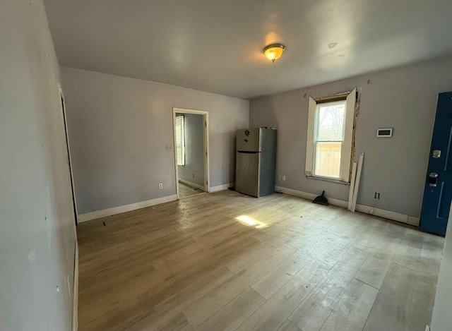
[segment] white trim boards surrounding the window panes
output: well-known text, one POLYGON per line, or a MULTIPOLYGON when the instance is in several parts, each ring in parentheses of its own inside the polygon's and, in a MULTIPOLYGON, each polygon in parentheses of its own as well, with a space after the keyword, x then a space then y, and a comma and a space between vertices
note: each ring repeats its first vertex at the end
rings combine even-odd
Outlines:
POLYGON ((355 103, 356 103, 356 89, 350 92, 346 99, 345 109, 345 132, 343 140, 343 148, 341 150, 340 160, 340 178, 314 176, 314 134, 316 121, 316 100, 309 97, 309 114, 308 114, 308 130, 306 142, 306 176, 324 179, 327 181, 341 181, 350 183, 350 164, 352 163, 352 145, 353 145, 353 124, 355 122, 355 103))

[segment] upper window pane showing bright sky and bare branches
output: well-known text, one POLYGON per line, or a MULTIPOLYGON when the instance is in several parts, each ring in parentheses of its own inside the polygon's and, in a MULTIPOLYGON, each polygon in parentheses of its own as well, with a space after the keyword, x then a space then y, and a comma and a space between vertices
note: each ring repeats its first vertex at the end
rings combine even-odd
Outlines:
POLYGON ((345 104, 331 104, 317 108, 317 139, 321 141, 344 139, 345 104))

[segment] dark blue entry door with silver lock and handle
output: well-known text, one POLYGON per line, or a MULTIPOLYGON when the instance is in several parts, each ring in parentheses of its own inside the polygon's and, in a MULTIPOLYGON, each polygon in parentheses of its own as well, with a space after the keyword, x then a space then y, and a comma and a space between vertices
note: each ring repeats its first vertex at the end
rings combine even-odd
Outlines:
POLYGON ((425 179, 420 229, 445 236, 452 200, 452 92, 440 93, 425 179))

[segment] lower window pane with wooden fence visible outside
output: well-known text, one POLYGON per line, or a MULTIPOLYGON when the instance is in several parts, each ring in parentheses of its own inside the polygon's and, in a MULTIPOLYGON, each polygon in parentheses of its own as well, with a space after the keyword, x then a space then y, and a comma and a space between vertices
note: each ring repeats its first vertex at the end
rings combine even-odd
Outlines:
POLYGON ((342 143, 316 143, 314 175, 340 178, 340 149, 342 143))

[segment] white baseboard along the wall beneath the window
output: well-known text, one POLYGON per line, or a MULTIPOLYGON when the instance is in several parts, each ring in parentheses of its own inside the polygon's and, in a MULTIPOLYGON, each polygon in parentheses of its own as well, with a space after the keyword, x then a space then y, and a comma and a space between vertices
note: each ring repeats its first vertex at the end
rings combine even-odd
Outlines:
MULTIPOLYGON (((298 191, 298 190, 294 190, 292 188, 285 188, 283 186, 275 186, 275 191, 280 191, 280 192, 287 193, 290 195, 299 196, 301 198, 305 198, 305 199, 309 199, 309 200, 314 200, 314 198, 316 198, 316 196, 317 196, 316 194, 313 194, 313 193, 298 191)), ((335 205, 335 206, 344 207, 344 208, 348 207, 347 201, 339 200, 339 199, 335 199, 335 198, 329 198, 328 196, 326 196, 326 198, 328 198, 328 203, 330 203, 330 205, 335 205)), ((375 215, 375 216, 383 217, 383 218, 387 218, 387 219, 392 219, 393 221, 411 224, 411 225, 414 225, 415 227, 419 226, 419 217, 400 214, 400 212, 391 212, 390 210, 384 210, 384 209, 380 209, 380 208, 376 208, 376 207, 370 207, 367 205, 356 205, 356 210, 358 212, 364 212, 366 214, 375 215)))

